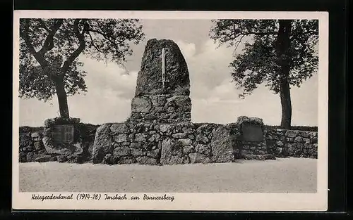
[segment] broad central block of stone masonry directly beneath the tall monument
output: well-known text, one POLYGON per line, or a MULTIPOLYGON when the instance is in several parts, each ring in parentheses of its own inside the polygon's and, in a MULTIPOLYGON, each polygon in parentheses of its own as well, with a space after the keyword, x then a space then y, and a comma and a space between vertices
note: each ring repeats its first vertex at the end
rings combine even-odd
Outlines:
POLYGON ((97 129, 92 162, 187 164, 232 162, 233 142, 222 124, 103 124, 97 129))

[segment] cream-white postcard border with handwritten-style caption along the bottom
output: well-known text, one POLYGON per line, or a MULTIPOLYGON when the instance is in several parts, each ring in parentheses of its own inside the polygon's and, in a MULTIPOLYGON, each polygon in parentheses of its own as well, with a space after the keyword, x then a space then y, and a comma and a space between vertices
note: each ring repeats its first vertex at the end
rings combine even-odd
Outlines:
MULTIPOLYGON (((232 11, 14 11, 13 15, 13 209, 325 211, 328 207, 328 13, 232 11), (19 192, 18 67, 19 18, 140 19, 318 19, 318 188, 317 193, 172 193, 174 202, 104 200, 31 200, 19 192)), ((58 192, 53 192, 58 193, 58 192)), ((61 192, 64 193, 64 192, 61 192)), ((92 192, 91 192, 92 193, 92 192)), ((119 192, 114 192, 119 193, 119 192)), ((44 193, 42 193, 44 194, 44 193)), ((51 193, 45 193, 51 194, 51 193)), ((78 193, 74 193, 74 197, 78 193)), ((129 193, 126 193, 129 194, 129 193)), ((143 193, 130 193, 143 195, 143 193)))

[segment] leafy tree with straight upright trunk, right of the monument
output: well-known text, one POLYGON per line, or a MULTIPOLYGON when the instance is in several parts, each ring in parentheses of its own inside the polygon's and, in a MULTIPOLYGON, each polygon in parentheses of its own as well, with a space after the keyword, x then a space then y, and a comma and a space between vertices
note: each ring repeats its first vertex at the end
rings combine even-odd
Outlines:
POLYGON ((316 46, 318 20, 213 20, 210 37, 219 46, 234 47, 244 41, 244 53, 234 55, 231 75, 239 97, 252 93, 259 84, 280 93, 281 127, 292 120, 290 87, 298 86, 318 69, 316 46))

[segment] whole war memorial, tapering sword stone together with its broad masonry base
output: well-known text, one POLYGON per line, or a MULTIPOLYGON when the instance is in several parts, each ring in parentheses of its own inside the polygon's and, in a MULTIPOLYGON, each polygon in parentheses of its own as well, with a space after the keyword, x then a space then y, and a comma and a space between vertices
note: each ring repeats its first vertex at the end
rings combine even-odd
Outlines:
MULTIPOLYGON (((189 94, 189 71, 177 44, 150 39, 138 72, 131 117, 97 129, 92 162, 186 164, 233 162, 241 157, 239 126, 191 123, 189 94)), ((265 146, 257 148, 257 155, 267 154, 265 146)))

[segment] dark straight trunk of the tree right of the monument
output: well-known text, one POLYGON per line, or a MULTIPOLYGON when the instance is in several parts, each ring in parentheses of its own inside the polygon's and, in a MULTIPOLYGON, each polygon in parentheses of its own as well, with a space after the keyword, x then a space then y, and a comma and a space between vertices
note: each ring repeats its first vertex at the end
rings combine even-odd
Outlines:
POLYGON ((290 32, 292 20, 279 20, 280 28, 277 37, 277 56, 280 64, 280 98, 282 105, 281 127, 290 129, 292 121, 292 102, 289 87, 289 60, 290 32))

